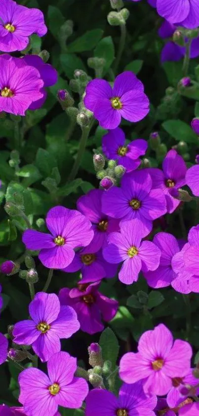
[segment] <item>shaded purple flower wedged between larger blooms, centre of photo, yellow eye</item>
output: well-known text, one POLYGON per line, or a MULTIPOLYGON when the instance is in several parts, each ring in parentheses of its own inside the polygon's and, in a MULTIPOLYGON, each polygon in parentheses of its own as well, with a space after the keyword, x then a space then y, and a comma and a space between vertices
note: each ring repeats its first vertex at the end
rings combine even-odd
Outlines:
POLYGON ((77 207, 92 223, 95 248, 100 249, 107 243, 107 236, 114 231, 119 231, 119 220, 110 218, 102 213, 103 189, 91 189, 86 195, 80 196, 77 207))

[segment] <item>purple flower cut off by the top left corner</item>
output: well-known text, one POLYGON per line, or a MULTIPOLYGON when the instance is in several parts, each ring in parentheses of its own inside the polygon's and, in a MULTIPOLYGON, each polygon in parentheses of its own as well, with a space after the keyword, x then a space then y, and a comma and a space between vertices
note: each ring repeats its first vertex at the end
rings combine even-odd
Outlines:
POLYGON ((0 1, 0 51, 23 51, 28 46, 29 36, 47 32, 43 13, 37 8, 28 8, 12 0, 0 1))

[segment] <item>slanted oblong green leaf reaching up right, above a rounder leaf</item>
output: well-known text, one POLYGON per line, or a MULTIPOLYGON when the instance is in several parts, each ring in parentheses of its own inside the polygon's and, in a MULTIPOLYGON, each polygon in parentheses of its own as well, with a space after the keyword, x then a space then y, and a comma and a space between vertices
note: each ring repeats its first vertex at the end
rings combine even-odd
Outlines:
POLYGON ((102 29, 88 30, 80 38, 68 45, 69 52, 91 51, 100 41, 103 35, 102 29))

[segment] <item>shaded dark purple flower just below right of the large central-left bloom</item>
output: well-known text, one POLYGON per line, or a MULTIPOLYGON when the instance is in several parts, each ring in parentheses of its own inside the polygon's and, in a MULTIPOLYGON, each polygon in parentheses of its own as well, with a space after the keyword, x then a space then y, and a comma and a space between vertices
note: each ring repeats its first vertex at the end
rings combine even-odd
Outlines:
MULTIPOLYGON (((111 234, 110 234, 111 235, 111 234)), ((112 278, 117 273, 117 265, 113 266, 102 256, 102 250, 98 251, 95 243, 90 243, 87 247, 75 254, 72 263, 63 269, 63 272, 73 273, 81 271, 81 283, 96 282, 103 278, 112 278)))

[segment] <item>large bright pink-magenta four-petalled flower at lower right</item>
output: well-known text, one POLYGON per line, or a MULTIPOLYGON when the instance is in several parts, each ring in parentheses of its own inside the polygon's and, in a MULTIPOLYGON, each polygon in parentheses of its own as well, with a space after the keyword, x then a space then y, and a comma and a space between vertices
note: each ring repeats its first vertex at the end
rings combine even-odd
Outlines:
POLYGON ((185 376, 191 367, 192 348, 186 341, 173 342, 163 324, 146 331, 139 340, 138 353, 127 353, 120 360, 120 378, 125 383, 143 380, 147 394, 164 396, 172 379, 185 376))

